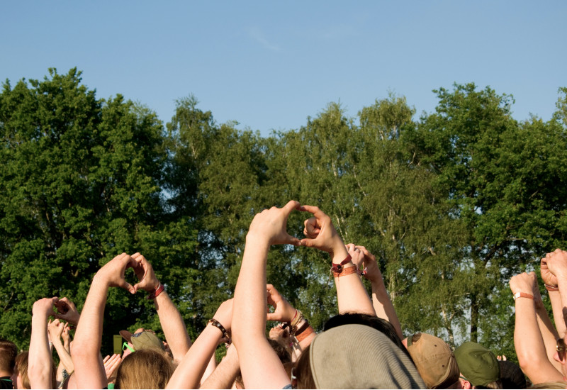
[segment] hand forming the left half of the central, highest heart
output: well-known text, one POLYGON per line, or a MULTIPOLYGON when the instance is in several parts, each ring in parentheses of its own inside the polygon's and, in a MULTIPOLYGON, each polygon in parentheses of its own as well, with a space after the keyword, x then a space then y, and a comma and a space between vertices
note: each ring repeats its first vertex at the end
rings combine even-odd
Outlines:
POLYGON ((299 202, 289 201, 282 208, 272 207, 257 213, 250 223, 247 237, 265 241, 269 245, 291 244, 301 245, 301 241, 288 234, 288 216, 293 210, 299 210, 299 202))

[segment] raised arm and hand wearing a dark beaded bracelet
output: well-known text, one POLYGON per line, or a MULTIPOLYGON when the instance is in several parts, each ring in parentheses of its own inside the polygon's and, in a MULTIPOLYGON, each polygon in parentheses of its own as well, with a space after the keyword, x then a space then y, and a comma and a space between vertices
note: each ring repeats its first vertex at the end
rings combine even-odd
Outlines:
POLYGON ((224 301, 218 307, 213 321, 209 321, 189 352, 185 354, 179 366, 167 383, 166 389, 197 389, 201 377, 207 368, 210 357, 215 353, 222 340, 228 340, 232 320, 232 299, 224 301), (222 328, 222 330, 221 330, 222 328), (224 331, 223 331, 224 330, 224 331))

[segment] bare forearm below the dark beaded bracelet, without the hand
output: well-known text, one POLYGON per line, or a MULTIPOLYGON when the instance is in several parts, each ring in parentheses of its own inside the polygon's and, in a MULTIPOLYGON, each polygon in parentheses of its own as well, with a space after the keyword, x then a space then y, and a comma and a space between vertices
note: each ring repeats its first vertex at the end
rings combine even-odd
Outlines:
POLYGON ((222 337, 223 334, 218 328, 212 324, 207 325, 193 342, 189 352, 181 359, 166 389, 197 389, 210 356, 215 352, 222 337))

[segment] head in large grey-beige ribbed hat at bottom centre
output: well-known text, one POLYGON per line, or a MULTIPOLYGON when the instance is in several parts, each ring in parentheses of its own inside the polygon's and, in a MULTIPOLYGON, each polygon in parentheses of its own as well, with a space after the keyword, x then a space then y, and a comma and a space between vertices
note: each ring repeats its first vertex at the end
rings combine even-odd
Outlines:
POLYGON ((320 333, 293 370, 298 389, 416 389, 425 383, 386 335, 366 325, 320 333), (337 373, 340 373, 337 375, 337 373))

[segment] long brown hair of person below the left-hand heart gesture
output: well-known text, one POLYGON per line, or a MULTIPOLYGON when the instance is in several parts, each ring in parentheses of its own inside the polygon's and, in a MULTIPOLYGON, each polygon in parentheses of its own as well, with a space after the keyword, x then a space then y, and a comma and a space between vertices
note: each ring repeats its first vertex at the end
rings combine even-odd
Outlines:
POLYGON ((115 389, 165 389, 174 368, 164 353, 152 348, 137 350, 118 366, 115 389))

